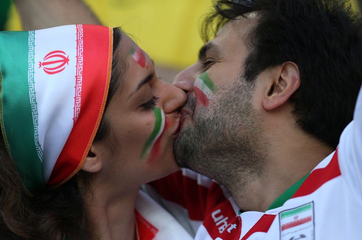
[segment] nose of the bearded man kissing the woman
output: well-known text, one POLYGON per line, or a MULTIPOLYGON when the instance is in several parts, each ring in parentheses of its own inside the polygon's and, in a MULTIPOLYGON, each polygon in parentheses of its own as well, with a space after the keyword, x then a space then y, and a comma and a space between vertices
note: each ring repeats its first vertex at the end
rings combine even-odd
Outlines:
POLYGON ((173 81, 173 86, 184 90, 186 93, 194 91, 194 82, 197 76, 200 75, 197 64, 191 65, 176 75, 173 81))

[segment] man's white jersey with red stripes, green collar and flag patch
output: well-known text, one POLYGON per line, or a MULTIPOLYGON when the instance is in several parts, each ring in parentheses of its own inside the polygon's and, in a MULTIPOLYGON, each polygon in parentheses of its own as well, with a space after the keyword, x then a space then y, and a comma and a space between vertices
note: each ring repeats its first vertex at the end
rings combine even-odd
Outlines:
POLYGON ((196 240, 362 239, 362 89, 337 150, 266 212, 238 213, 222 186, 186 169, 147 189, 196 240))

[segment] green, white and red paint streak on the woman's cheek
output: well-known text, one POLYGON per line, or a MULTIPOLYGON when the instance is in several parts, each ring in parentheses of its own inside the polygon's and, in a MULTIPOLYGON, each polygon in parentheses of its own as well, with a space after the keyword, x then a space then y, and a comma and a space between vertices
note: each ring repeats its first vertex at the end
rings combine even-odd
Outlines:
POLYGON ((165 129, 165 115, 162 109, 154 108, 153 113, 155 115, 156 121, 151 136, 147 139, 145 145, 143 146, 141 159, 146 159, 151 161, 156 158, 160 151, 160 141, 162 134, 165 129))

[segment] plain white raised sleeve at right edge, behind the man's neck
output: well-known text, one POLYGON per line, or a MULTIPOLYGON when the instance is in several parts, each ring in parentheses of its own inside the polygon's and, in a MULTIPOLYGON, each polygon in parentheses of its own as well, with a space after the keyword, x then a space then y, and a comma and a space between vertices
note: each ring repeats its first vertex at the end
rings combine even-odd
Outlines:
POLYGON ((353 121, 344 129, 339 141, 338 164, 351 190, 362 199, 362 88, 353 121))

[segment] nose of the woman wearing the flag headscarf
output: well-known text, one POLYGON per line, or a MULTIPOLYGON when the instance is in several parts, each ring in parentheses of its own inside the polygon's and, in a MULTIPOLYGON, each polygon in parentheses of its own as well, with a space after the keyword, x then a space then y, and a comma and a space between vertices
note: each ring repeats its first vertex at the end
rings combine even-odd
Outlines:
POLYGON ((168 83, 163 82, 163 84, 168 85, 164 91, 163 111, 165 113, 171 113, 183 107, 187 100, 186 93, 182 89, 176 88, 168 83))

